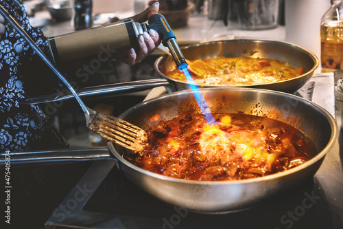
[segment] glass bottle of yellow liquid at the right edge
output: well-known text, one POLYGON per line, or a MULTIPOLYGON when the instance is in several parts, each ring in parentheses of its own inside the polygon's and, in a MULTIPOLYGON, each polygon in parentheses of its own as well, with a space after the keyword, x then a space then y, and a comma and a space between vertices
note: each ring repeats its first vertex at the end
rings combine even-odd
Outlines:
POLYGON ((343 1, 332 1, 320 23, 322 72, 343 69, 343 1))

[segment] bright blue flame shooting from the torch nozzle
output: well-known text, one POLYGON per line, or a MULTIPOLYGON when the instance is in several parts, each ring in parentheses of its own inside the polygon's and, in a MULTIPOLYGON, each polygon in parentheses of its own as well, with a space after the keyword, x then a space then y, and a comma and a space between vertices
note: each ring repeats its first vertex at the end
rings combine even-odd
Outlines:
POLYGON ((196 85, 196 83, 193 80, 193 78, 191 78, 191 74, 189 74, 187 63, 182 63, 180 66, 178 66, 178 69, 179 69, 180 72, 185 74, 188 83, 190 83, 189 87, 193 91, 193 95, 196 98, 196 102, 198 102, 198 105, 199 105, 199 107, 200 107, 200 109, 202 111, 202 114, 204 115, 204 118, 206 118, 207 123, 210 126, 212 124, 215 124, 215 119, 212 116, 211 110, 207 106, 207 103, 206 103, 206 100, 205 100, 204 96, 202 96, 202 93, 201 93, 198 85, 196 85))

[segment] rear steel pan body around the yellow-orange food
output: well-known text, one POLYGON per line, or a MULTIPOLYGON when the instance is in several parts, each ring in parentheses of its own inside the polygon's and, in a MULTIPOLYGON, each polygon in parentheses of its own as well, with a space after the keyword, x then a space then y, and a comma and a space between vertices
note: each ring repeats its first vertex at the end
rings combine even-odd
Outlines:
MULTIPOLYGON (((282 41, 263 41, 237 39, 228 41, 212 41, 208 43, 199 43, 181 48, 182 53, 188 60, 204 58, 238 57, 249 56, 254 58, 271 58, 288 65, 299 68, 304 67, 304 74, 289 80, 269 83, 263 85, 251 85, 245 87, 255 87, 261 89, 272 89, 293 93, 303 87, 313 76, 314 71, 319 65, 318 58, 311 52, 291 43, 282 41)), ((171 91, 180 91, 189 89, 189 84, 180 80, 175 80, 163 74, 164 69, 170 69, 174 65, 174 60, 170 55, 165 54, 159 57, 154 68, 161 78, 165 78, 174 86, 171 91)), ((199 85, 200 87, 222 87, 214 85, 199 85)))

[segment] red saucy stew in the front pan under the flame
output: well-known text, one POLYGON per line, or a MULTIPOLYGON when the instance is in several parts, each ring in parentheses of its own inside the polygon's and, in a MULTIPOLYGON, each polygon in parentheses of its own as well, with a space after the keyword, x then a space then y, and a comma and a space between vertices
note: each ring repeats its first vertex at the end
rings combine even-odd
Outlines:
POLYGON ((126 159, 147 171, 181 179, 217 181, 263 177, 299 166, 318 153, 314 143, 284 122, 243 113, 198 113, 158 120, 150 145, 126 159))

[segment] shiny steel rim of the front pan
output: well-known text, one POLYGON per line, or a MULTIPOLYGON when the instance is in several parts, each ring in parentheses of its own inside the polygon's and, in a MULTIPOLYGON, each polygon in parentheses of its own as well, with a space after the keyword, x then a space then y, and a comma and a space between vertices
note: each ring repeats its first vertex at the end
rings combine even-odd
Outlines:
MULTIPOLYGON (((200 91, 215 91, 215 90, 222 90, 223 88, 206 88, 206 89, 199 89, 200 91)), ((335 121, 335 118, 329 113, 329 111, 325 110, 324 108, 320 107, 314 102, 311 102, 309 100, 305 100, 303 98, 300 98, 298 96, 288 94, 282 91, 273 91, 270 89, 255 89, 255 88, 233 88, 233 87, 226 87, 225 88, 228 91, 260 91, 261 93, 266 93, 266 94, 281 94, 283 96, 289 97, 289 98, 294 98, 296 100, 301 100, 307 105, 310 105, 314 109, 317 109, 322 115, 327 119, 327 121, 330 124, 331 127, 331 136, 329 138, 329 141, 327 142, 327 145, 324 146, 324 148, 314 157, 312 157, 309 161, 305 162, 304 164, 301 164, 300 166, 296 166, 295 168, 291 168, 287 171, 282 171, 279 173, 274 173, 272 175, 266 175, 264 177, 255 177, 255 178, 250 178, 250 179, 241 179, 241 180, 228 180, 228 181, 198 181, 198 180, 189 180, 189 179, 181 179, 181 178, 175 178, 175 177, 168 177, 166 175, 161 175, 158 173, 153 173, 151 171, 147 171, 143 168, 140 168, 127 160, 125 160, 115 149, 115 146, 112 142, 108 142, 108 147, 110 151, 115 155, 117 160, 119 160, 121 163, 125 164, 126 166, 134 169, 135 171, 139 171, 140 173, 149 175, 151 177, 154 177, 156 179, 163 179, 168 182, 176 182, 176 183, 181 183, 181 184, 193 184, 193 185, 209 185, 209 184, 214 184, 214 185, 220 185, 220 186, 226 186, 226 185, 237 185, 237 184, 249 184, 249 183, 257 183, 257 182, 265 182, 269 181, 272 179, 276 178, 282 178, 282 177, 287 177, 288 175, 291 175, 293 173, 298 173, 299 171, 302 171, 303 169, 315 164, 316 162, 320 160, 324 160, 324 156, 329 153, 329 151, 333 148, 333 146, 338 142, 338 124, 335 121)), ((123 118, 123 116, 126 116, 127 113, 130 113, 132 109, 137 109, 137 107, 144 106, 146 103, 152 101, 152 100, 162 100, 166 97, 174 97, 176 95, 182 95, 182 94, 190 94, 192 91, 189 90, 184 90, 184 91, 176 91, 170 94, 165 94, 163 96, 160 96, 158 98, 152 98, 150 100, 146 100, 144 102, 140 102, 134 107, 131 107, 130 109, 124 111, 121 113, 118 118, 123 118)), ((125 118, 124 118, 125 119, 125 118)))

